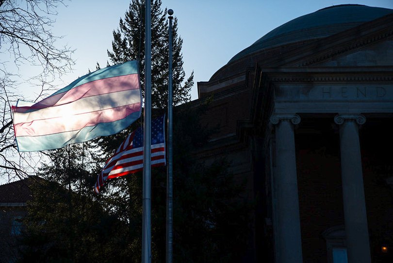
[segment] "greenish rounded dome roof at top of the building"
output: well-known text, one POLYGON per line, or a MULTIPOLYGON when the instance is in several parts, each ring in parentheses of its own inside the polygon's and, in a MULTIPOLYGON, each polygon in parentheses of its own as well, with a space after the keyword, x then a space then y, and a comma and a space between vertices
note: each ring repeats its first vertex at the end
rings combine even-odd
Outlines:
POLYGON ((228 64, 266 48, 334 35, 391 13, 393 13, 393 9, 356 4, 336 5, 320 9, 314 13, 295 18, 270 31, 232 57, 228 64))

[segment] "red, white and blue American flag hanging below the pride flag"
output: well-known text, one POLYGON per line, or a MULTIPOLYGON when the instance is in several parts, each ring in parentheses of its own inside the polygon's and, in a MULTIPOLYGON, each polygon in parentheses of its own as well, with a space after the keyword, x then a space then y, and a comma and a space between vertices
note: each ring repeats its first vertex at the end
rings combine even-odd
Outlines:
MULTIPOLYGON (((165 115, 151 122, 151 167, 166 164, 165 160, 165 115)), ((129 175, 143 169, 143 129, 139 127, 121 143, 115 154, 106 162, 98 175, 94 191, 107 179, 129 175)))

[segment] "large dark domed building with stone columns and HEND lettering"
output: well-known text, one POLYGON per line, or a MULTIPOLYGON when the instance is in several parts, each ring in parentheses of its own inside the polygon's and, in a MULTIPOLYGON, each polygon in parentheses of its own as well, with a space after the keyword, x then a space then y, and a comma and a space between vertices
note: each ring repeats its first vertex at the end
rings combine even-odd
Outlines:
POLYGON ((197 158, 226 157, 255 200, 245 262, 393 262, 393 10, 291 20, 206 82, 197 158))

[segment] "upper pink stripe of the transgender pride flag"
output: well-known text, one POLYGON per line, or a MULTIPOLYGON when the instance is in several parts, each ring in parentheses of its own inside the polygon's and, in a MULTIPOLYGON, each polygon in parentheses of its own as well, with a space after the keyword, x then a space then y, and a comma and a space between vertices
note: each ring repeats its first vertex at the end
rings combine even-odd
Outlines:
POLYGON ((131 74, 125 76, 117 76, 112 78, 99 79, 91 81, 66 92, 62 92, 50 96, 30 107, 13 107, 15 112, 26 112, 28 109, 41 109, 55 105, 64 105, 70 102, 77 101, 82 98, 113 93, 123 90, 131 90, 139 88, 138 74, 131 74))

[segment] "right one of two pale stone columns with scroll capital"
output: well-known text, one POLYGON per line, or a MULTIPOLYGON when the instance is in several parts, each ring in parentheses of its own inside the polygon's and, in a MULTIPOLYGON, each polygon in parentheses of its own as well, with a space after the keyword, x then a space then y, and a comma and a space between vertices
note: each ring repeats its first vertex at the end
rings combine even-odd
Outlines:
POLYGON ((348 263, 371 263, 361 167, 359 127, 363 115, 337 115, 340 125, 341 176, 348 263))

